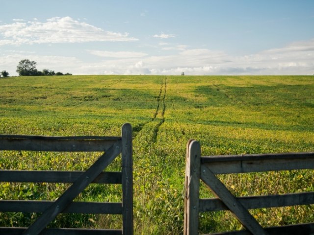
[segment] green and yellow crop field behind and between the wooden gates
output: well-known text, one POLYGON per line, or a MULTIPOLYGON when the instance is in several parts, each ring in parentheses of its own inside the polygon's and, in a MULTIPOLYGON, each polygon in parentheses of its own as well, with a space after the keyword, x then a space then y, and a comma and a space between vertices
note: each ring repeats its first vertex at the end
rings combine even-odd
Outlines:
MULTIPOLYGON (((0 134, 119 136, 125 122, 133 129, 134 233, 182 234, 186 142, 200 141, 202 155, 314 151, 314 77, 0 78, 0 134)), ((0 151, 0 168, 83 170, 98 156, 0 151)), ((314 191, 313 170, 219 177, 241 196, 314 191)), ((67 187, 2 182, 0 199, 55 200, 67 187)), ((92 184, 76 200, 120 201, 120 191, 121 186, 92 184)), ((201 196, 212 197, 204 186, 201 196)), ((265 227, 314 221, 314 205, 250 212, 265 227)), ((36 216, 0 213, 0 226, 27 226, 36 216)), ((200 233, 241 229, 229 212, 200 218, 200 233)), ((64 214, 49 226, 115 229, 121 217, 64 214)))

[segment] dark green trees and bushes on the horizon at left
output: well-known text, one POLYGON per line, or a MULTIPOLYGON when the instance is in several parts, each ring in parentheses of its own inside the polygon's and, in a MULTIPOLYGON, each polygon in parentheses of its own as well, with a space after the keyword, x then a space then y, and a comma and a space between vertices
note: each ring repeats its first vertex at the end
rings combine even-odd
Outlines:
MULTIPOLYGON (((72 75, 72 73, 62 73, 62 72, 54 72, 53 70, 44 69, 42 71, 38 71, 36 69, 37 62, 30 61, 28 59, 21 60, 16 67, 16 72, 19 76, 52 76, 52 75, 72 75)), ((9 73, 5 70, 0 72, 0 77, 8 77, 9 73)))

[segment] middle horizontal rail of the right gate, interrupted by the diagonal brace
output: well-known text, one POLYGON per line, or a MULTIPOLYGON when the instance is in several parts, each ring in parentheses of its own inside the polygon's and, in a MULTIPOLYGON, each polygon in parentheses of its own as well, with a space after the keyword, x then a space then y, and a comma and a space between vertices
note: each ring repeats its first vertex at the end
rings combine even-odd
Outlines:
MULTIPOLYGON (((314 204, 314 192, 236 198, 246 209, 286 207, 314 204)), ((228 207, 218 198, 200 199, 199 211, 226 211, 228 207)))

